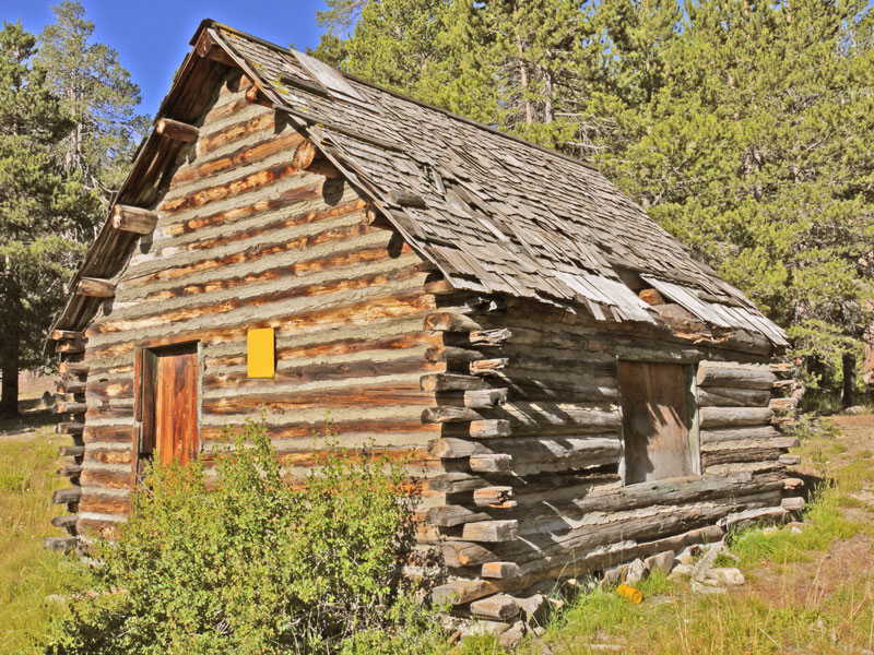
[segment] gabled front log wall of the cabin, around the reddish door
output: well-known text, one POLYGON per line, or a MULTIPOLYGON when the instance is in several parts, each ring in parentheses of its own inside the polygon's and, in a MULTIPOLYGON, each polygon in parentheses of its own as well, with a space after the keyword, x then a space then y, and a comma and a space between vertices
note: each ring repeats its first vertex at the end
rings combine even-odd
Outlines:
POLYGON ((75 355, 88 367, 70 409, 84 419, 71 462, 81 534, 129 509, 137 346, 200 343, 208 458, 224 426, 263 408, 292 475, 318 463, 312 432, 329 410, 342 444, 373 440, 420 477, 439 464, 427 443, 440 426, 421 420, 435 393, 420 378, 446 370, 425 357, 440 345, 423 327, 436 309, 423 287, 428 266, 390 230, 362 223, 365 202, 342 179, 294 167, 303 136, 247 100, 248 86, 228 74, 196 129, 177 130, 193 141, 154 205, 140 209, 156 216, 154 231, 137 222, 145 234, 75 355), (256 327, 275 330, 273 379, 247 378, 256 327))

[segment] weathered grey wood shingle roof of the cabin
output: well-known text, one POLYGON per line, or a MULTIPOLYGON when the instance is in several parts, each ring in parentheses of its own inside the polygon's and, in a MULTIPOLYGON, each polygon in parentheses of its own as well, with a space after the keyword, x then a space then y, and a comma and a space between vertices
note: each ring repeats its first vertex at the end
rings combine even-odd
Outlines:
MULTIPOLYGON (((706 323, 786 345, 740 290, 584 163, 212 21, 192 43, 204 34, 452 286, 651 322, 651 308, 621 277, 631 274, 706 323)), ((186 93, 180 83, 170 96, 186 93)), ((76 315, 68 305, 56 326, 81 327, 76 315)))

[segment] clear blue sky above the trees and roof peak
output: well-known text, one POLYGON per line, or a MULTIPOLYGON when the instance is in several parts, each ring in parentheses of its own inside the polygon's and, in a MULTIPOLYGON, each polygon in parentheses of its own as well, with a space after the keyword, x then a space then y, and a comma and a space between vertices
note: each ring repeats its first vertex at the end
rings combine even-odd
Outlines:
MULTIPOLYGON (((21 19, 39 32, 52 22, 49 0, 0 0, 0 19, 21 19)), ((140 111, 154 116, 169 90, 173 72, 190 49, 202 19, 215 19, 267 40, 303 50, 318 44, 316 10, 323 0, 82 0, 94 23, 94 38, 118 50, 121 64, 142 90, 140 111)))

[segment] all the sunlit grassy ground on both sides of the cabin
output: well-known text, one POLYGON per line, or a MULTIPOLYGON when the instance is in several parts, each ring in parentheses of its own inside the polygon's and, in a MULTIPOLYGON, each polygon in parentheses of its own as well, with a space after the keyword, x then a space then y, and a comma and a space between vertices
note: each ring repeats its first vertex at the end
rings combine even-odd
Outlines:
MULTIPOLYGON (((42 550, 49 525, 62 511, 46 502, 66 486, 55 475, 55 437, 31 417, 2 429, 29 429, 32 438, 0 437, 0 655, 38 653, 34 639, 61 607, 47 603, 79 584, 72 567, 42 550)), ((801 533, 790 527, 752 528, 731 535, 747 584, 727 595, 693 594, 686 581, 653 575, 639 586, 645 602, 633 605, 613 590, 578 595, 544 624, 542 636, 527 636, 519 655, 623 652, 647 655, 709 653, 746 655, 860 653, 874 644, 874 568, 866 558, 839 569, 835 546, 874 535, 870 508, 854 495, 874 487, 871 451, 847 453, 838 432, 822 429, 802 439, 802 457, 828 475, 805 515, 801 533), (816 457, 814 456, 816 455, 816 457), (849 572, 848 572, 849 571, 849 572), (599 646, 612 646, 603 648, 599 646), (616 650, 616 647, 618 650, 616 650)), ((857 544, 857 547, 860 547, 857 544)), ((857 551, 858 552, 858 551, 857 551)), ((734 565, 720 558, 719 565, 734 565)), ((453 655, 503 655, 494 638, 464 640, 453 655)))

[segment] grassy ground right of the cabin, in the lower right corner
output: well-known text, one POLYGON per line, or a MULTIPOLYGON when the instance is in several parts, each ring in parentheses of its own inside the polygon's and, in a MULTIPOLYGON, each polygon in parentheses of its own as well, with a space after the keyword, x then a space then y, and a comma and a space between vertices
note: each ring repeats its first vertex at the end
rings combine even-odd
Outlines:
MULTIPOLYGON (((829 481, 808 504, 801 532, 755 527, 730 536, 747 584, 725 595, 697 595, 686 581, 671 583, 658 576, 641 584, 640 605, 627 603, 613 590, 592 591, 554 616, 542 640, 528 638, 518 653, 541 655, 544 644, 554 655, 871 650, 874 526, 871 507, 854 495, 874 487, 872 453, 848 452, 834 426, 808 427, 799 434, 802 461, 829 481), (840 545, 854 549, 836 550, 840 545)), ((735 565, 727 558, 718 564, 735 565)))

